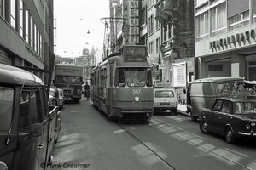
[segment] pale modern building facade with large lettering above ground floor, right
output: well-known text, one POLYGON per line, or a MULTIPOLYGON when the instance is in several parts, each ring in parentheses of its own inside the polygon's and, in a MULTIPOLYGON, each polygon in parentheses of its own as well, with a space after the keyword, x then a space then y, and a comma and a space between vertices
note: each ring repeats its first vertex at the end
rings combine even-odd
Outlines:
POLYGON ((195 0, 195 78, 256 80, 255 28, 255 0, 195 0))

